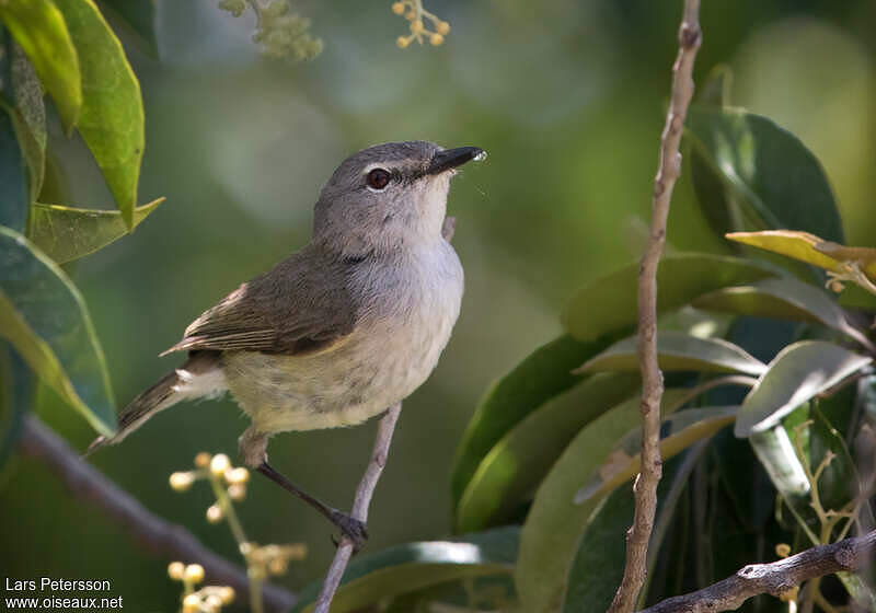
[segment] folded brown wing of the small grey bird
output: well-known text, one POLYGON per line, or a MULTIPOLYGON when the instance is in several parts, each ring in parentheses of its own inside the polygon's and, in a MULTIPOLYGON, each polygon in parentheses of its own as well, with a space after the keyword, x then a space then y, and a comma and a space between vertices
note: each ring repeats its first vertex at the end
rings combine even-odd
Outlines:
POLYGON ((205 311, 162 356, 193 349, 287 355, 328 350, 356 327, 348 268, 306 248, 205 311))

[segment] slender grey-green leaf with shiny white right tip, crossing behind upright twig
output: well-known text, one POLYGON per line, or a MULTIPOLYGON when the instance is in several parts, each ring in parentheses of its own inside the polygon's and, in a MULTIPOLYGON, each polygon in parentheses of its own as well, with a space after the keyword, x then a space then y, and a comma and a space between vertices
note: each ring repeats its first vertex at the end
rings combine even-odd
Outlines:
MULTIPOLYGON (((619 340, 598 356, 590 358, 575 373, 607 370, 637 371, 637 337, 619 340)), ((700 338, 683 332, 664 331, 657 334, 657 359, 660 368, 704 372, 741 372, 759 375, 766 365, 750 356, 738 345, 723 338, 700 338)))

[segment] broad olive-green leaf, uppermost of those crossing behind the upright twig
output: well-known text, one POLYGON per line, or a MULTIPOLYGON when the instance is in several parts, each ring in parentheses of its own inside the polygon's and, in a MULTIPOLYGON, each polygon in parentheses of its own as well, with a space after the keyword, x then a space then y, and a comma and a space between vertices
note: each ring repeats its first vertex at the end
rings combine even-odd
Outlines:
MULTIPOLYGON (((773 276, 775 273, 766 265, 739 257, 667 255, 657 270, 657 310, 670 311, 703 293, 773 276)), ((637 279, 638 263, 634 263, 578 290, 563 309, 566 331, 586 342, 634 326, 637 279)))

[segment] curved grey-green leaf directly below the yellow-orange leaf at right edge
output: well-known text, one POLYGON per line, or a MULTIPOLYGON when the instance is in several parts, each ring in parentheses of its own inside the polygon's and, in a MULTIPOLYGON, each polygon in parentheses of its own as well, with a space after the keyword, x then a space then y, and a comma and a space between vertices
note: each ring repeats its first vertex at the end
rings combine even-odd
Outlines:
POLYGON ((849 323, 843 310, 825 291, 789 277, 719 289, 695 299, 693 305, 739 315, 820 323, 874 349, 869 339, 849 323))

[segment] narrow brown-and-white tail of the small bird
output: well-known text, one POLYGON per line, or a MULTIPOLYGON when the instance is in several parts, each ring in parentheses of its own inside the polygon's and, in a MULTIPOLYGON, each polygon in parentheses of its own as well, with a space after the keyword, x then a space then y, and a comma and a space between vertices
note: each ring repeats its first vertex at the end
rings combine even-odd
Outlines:
POLYGON ((89 446, 83 458, 107 444, 122 442, 146 421, 180 401, 219 394, 226 391, 218 351, 193 351, 188 359, 162 377, 158 383, 138 394, 118 416, 118 430, 112 437, 100 436, 89 446))

